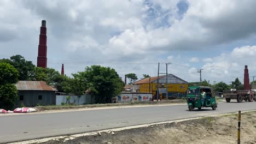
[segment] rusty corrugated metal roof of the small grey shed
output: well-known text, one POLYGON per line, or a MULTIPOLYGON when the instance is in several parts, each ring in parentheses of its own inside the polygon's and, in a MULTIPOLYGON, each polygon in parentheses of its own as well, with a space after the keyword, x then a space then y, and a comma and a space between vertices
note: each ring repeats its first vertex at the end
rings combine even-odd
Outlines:
POLYGON ((44 81, 19 81, 16 87, 18 91, 57 91, 44 81))

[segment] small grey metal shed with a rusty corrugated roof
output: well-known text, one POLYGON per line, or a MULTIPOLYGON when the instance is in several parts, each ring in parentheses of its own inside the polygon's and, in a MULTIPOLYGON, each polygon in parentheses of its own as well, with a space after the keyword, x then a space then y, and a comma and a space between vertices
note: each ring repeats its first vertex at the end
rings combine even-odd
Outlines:
POLYGON ((16 106, 55 105, 55 88, 50 87, 44 81, 19 81, 16 83, 18 89, 18 101, 16 106))

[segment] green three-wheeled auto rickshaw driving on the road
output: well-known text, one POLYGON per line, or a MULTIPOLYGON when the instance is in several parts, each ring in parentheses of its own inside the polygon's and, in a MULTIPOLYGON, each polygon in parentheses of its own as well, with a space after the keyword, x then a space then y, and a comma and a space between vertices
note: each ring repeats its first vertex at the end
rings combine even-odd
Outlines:
POLYGON ((216 110, 217 108, 214 91, 211 87, 189 87, 186 99, 188 102, 189 111, 193 111, 195 107, 197 107, 199 110, 201 110, 202 107, 212 107, 212 110, 216 110), (202 95, 205 97, 204 99, 202 99, 202 95))

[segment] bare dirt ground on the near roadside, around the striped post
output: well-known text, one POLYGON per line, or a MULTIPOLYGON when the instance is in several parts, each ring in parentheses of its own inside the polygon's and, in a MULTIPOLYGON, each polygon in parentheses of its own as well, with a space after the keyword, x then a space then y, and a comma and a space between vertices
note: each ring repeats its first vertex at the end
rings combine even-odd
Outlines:
MULTIPOLYGON (((256 143, 256 112, 242 113, 241 143, 256 143)), ((237 114, 102 133, 65 143, 236 143, 237 114)), ((51 140, 44 143, 63 143, 51 140)))

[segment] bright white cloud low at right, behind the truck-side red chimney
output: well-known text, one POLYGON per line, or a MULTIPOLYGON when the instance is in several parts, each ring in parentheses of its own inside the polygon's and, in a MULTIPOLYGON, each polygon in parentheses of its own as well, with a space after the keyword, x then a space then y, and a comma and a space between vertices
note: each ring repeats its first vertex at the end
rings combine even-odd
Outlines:
POLYGON ((255 49, 256 46, 241 46, 236 47, 231 53, 221 53, 219 56, 213 57, 212 62, 208 62, 202 67, 206 79, 229 82, 239 77, 243 83, 245 65, 248 65, 250 76, 256 73, 255 49))

